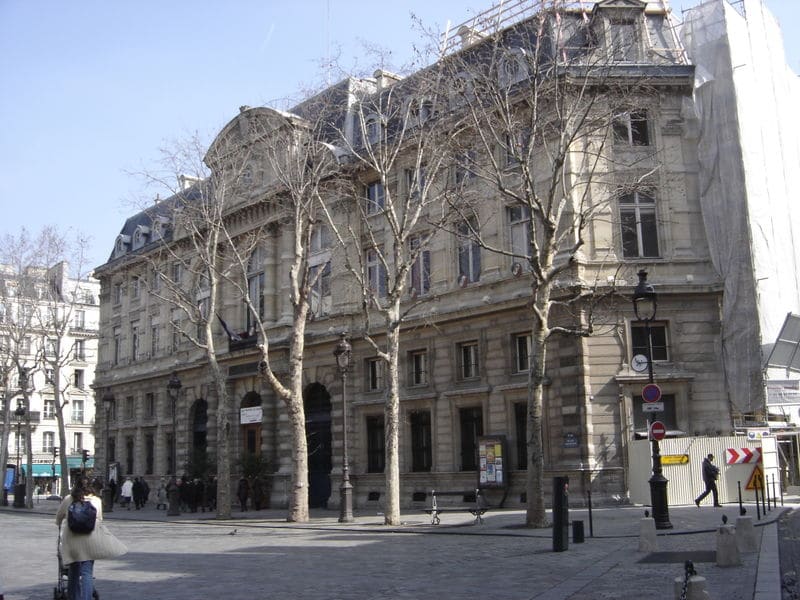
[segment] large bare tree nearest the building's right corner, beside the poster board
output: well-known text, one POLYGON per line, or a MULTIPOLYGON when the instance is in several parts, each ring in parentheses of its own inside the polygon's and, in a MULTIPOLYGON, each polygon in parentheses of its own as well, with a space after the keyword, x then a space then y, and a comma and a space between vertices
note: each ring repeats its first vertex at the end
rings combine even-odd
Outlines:
POLYGON ((657 169, 652 156, 614 164, 608 148, 621 119, 630 122, 631 111, 652 102, 652 81, 619 69, 613 53, 597 44, 589 19, 564 12, 567 4, 543 3, 530 19, 502 31, 463 29, 465 49, 441 60, 468 124, 470 168, 479 181, 478 193, 452 204, 458 216, 451 231, 508 256, 513 272, 530 280, 526 523, 531 527, 546 524, 542 427, 548 341, 593 333, 593 306, 613 292, 612 283, 598 293, 598 275, 608 269, 613 275, 616 259, 588 262, 588 232, 606 231, 610 238, 610 228, 598 228, 601 222, 610 225, 610 201, 646 189, 657 169), (518 224, 510 244, 482 234, 489 221, 503 216, 482 209, 481 193, 499 197, 518 224))

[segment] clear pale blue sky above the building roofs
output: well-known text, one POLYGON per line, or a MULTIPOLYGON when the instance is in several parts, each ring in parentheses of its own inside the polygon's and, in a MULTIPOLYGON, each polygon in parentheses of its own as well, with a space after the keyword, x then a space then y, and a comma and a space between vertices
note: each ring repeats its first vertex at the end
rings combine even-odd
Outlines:
MULTIPOLYGON (((676 16, 696 0, 672 0, 676 16)), ((150 194, 131 172, 207 139, 238 107, 324 82, 328 56, 403 64, 421 34, 491 0, 0 0, 0 234, 44 225, 92 238, 102 264, 150 194)), ((800 71, 800 0, 766 0, 800 71)))

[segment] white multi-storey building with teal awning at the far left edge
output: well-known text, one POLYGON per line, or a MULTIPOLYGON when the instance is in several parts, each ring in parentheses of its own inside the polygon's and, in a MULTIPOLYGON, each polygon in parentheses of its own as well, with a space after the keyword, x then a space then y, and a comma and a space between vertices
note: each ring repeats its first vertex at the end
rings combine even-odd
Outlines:
MULTIPOLYGON (((34 480, 44 489, 54 474, 61 477, 60 457, 54 451, 62 447, 56 381, 60 381, 64 404, 64 448, 70 471, 84 466, 83 450, 94 454, 92 386, 100 283, 91 277, 70 277, 69 265, 60 262, 50 268, 28 267, 22 273, 0 266, 0 286, 0 364, 8 373, 7 385, 0 389, 0 414, 10 413, 7 463, 16 467, 19 461, 24 471, 30 455, 34 480), (19 367, 28 373, 30 448, 25 444, 26 421, 18 423, 14 414, 22 403, 19 367)), ((93 463, 91 456, 86 466, 93 463)))

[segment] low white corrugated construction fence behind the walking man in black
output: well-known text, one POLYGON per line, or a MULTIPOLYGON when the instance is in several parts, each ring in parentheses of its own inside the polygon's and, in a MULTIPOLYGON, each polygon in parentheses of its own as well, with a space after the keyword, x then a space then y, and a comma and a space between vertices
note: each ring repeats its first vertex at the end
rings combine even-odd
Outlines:
MULTIPOLYGON (((774 436, 767 436, 760 440, 748 440, 747 436, 724 437, 682 437, 661 440, 661 455, 679 456, 688 455, 689 461, 685 464, 663 465, 664 477, 669 480, 667 484, 667 500, 670 505, 692 504, 694 499, 705 489, 702 476, 703 458, 708 454, 714 455, 714 464, 720 469, 720 478, 717 481, 720 502, 738 502, 738 482, 741 482, 742 499, 755 500, 754 492, 745 489, 750 476, 755 468, 755 463, 737 465, 725 464, 725 450, 728 448, 761 449, 761 463, 769 494, 774 493, 780 497, 781 480, 778 468, 778 450, 774 436)), ((652 475, 652 444, 647 440, 634 440, 629 446, 628 464, 629 488, 631 502, 634 504, 650 504, 650 476, 652 475)), ((709 496, 704 502, 711 503, 709 496)))

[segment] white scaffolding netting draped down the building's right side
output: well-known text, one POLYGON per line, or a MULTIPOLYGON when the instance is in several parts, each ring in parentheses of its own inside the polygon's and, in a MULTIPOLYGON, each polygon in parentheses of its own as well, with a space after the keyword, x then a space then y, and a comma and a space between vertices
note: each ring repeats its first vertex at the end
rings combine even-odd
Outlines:
POLYGON ((800 312, 800 88, 780 28, 761 0, 686 11, 697 65, 698 187, 712 261, 725 282, 722 352, 732 408, 763 407, 768 345, 800 312), (743 15, 746 15, 743 16, 743 15), (796 235, 797 234, 797 235, 796 235))

